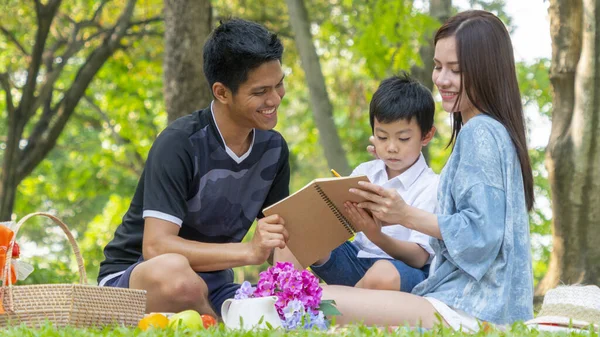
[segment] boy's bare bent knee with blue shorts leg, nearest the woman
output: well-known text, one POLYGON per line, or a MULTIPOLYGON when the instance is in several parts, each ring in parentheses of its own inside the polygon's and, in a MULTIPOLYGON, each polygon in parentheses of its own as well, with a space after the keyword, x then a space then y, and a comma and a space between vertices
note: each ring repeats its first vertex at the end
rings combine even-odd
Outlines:
POLYGON ((427 278, 429 266, 417 269, 399 260, 381 259, 373 264, 356 284, 358 288, 411 292, 427 278))

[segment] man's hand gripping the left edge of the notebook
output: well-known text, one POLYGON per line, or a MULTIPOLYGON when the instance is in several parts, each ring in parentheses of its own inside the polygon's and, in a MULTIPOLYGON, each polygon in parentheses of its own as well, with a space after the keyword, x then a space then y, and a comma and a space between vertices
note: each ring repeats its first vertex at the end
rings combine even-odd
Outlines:
POLYGON ((285 248, 287 240, 288 232, 282 217, 273 214, 258 220, 250 241, 252 264, 264 263, 274 248, 285 248))

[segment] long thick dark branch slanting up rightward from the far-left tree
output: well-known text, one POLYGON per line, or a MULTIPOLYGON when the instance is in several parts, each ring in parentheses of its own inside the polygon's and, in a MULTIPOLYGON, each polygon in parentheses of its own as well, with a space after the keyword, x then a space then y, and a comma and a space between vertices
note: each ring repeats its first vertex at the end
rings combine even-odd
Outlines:
POLYGON ((39 136, 39 140, 36 139, 34 141, 35 146, 30 147, 28 144, 25 147, 23 150, 23 160, 17 168, 18 177, 26 177, 30 174, 56 145, 58 137, 73 114, 75 107, 83 97, 90 82, 102 65, 119 48, 120 40, 125 35, 127 25, 133 15, 135 3, 136 0, 129 0, 127 2, 111 33, 107 34, 102 44, 87 57, 64 97, 52 109, 53 114, 56 115, 54 123, 49 126, 43 135, 39 136))

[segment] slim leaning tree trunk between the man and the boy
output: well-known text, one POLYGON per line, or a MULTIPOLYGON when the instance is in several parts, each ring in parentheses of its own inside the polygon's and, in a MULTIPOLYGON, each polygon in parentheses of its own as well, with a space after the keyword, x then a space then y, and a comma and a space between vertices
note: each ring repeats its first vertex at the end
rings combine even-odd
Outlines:
POLYGON ((333 107, 325 87, 319 56, 312 41, 310 21, 304 1, 286 0, 286 3, 294 31, 294 40, 300 53, 302 68, 306 74, 313 117, 319 130, 319 141, 323 146, 325 158, 329 167, 344 175, 350 174, 350 166, 333 121, 333 107))

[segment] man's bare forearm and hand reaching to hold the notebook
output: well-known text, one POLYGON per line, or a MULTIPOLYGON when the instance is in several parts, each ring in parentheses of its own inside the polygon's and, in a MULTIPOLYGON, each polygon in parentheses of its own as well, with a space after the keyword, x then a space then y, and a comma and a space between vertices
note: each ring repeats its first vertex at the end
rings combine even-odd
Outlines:
POLYGON ((252 240, 245 243, 186 240, 178 236, 179 225, 153 217, 146 217, 144 227, 144 259, 177 253, 187 257, 197 272, 262 264, 275 247, 283 248, 287 241, 283 220, 277 215, 259 220, 252 240))

